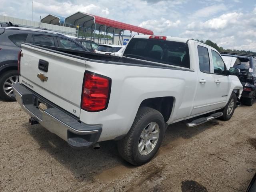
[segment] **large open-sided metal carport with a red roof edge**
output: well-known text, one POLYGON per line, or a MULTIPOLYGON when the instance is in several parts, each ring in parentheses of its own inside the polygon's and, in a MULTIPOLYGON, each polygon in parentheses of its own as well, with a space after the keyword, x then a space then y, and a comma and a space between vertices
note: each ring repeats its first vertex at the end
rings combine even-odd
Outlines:
MULTIPOLYGON (((72 14, 68 16, 65 19, 65 24, 72 25, 72 26, 79 26, 83 29, 82 32, 82 38, 84 37, 84 32, 91 32, 91 39, 95 39, 96 30, 99 31, 99 34, 102 34, 104 32, 104 40, 103 43, 108 43, 108 34, 113 34, 112 38, 112 44, 114 42, 114 35, 119 34, 119 41, 121 38, 121 42, 123 40, 123 35, 125 30, 129 30, 130 34, 132 35, 132 32, 137 32, 138 34, 149 34, 153 35, 154 33, 151 30, 141 28, 138 26, 126 24, 123 22, 111 20, 108 18, 84 13, 84 12, 76 12, 75 14, 72 14)), ((101 38, 100 38, 101 41, 101 38)), ((118 42, 119 42, 118 41, 118 42)))

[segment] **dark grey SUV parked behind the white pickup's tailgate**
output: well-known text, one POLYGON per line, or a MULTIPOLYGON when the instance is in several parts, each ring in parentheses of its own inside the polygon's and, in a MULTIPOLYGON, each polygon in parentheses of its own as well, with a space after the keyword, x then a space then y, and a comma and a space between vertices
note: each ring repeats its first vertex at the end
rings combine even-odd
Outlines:
POLYGON ((23 42, 41 46, 89 51, 87 48, 54 31, 24 27, 0 27, 0 98, 14 101, 12 84, 19 81, 18 52, 23 42))

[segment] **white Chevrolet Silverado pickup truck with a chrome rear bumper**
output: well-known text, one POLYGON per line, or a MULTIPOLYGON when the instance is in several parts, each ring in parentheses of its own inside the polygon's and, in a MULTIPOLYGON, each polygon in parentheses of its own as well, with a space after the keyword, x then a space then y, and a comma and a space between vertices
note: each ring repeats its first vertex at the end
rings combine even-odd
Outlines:
POLYGON ((18 63, 14 96, 30 124, 77 148, 118 140, 134 165, 156 154, 169 124, 229 120, 243 90, 217 50, 169 36, 133 36, 122 57, 22 44, 18 63))

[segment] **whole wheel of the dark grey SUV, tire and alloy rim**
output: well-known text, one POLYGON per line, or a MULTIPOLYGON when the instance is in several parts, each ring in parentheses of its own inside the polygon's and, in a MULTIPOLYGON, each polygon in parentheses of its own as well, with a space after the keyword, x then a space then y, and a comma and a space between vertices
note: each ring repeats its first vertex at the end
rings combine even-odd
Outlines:
POLYGON ((4 72, 0 77, 0 97, 5 101, 15 101, 11 96, 13 93, 12 85, 19 82, 19 74, 17 70, 4 72))

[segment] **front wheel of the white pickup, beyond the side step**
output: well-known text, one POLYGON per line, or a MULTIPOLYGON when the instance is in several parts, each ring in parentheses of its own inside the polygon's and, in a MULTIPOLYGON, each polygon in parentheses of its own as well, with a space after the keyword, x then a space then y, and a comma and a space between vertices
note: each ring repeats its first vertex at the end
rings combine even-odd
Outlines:
POLYGON ((236 94, 232 93, 225 108, 220 111, 223 113, 223 116, 221 116, 220 119, 224 121, 230 120, 230 118, 232 117, 235 111, 235 108, 236 108, 236 94))

